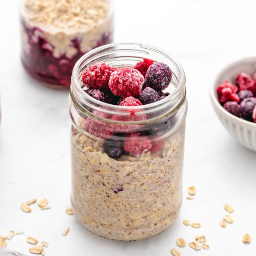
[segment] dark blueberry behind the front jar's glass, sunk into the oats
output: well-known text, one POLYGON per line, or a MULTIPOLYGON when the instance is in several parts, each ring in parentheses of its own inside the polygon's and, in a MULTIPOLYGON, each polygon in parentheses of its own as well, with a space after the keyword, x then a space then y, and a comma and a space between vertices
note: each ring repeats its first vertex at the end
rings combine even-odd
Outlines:
POLYGON ((124 154, 124 141, 117 136, 111 136, 103 144, 104 151, 111 158, 119 158, 124 154))

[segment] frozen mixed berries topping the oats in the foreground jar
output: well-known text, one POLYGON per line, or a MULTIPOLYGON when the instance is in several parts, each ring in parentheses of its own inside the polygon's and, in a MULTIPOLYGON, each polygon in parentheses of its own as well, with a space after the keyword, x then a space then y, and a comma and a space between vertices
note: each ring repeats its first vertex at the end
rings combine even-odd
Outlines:
POLYGON ((170 121, 163 121, 163 125, 152 125, 145 128, 136 122, 146 120, 145 114, 140 114, 143 109, 132 109, 157 102, 169 95, 165 90, 171 82, 171 68, 165 63, 144 59, 134 68, 115 68, 105 63, 95 63, 86 68, 82 81, 87 87, 85 93, 91 97, 112 105, 129 107, 129 115, 108 115, 94 113, 103 119, 123 122, 107 124, 104 121, 88 118, 85 120, 86 132, 105 139, 104 151, 111 158, 120 158, 124 154, 141 155, 151 149, 151 153, 161 150, 163 141, 158 140, 164 132, 170 129, 170 121), (143 132, 141 132, 143 130, 143 132), (120 141, 120 138, 122 140, 120 141))

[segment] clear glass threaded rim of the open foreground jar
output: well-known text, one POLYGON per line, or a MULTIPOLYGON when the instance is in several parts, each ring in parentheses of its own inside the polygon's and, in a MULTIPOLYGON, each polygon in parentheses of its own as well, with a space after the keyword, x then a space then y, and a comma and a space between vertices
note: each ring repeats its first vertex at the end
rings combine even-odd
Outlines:
MULTIPOLYGON (((152 109, 155 109, 157 107, 166 107, 170 104, 171 101, 174 99, 177 101, 175 104, 175 108, 172 107, 172 111, 177 111, 179 107, 183 104, 186 98, 186 90, 185 90, 185 73, 183 70, 182 65, 179 63, 179 61, 171 54, 169 54, 166 51, 163 51, 162 49, 158 47, 154 47, 148 44, 142 44, 142 43, 111 43, 107 44, 101 47, 97 47, 85 55, 83 55, 75 64, 73 68, 72 78, 71 78, 71 86, 70 86, 70 95, 72 100, 74 101, 74 98, 76 98, 76 103, 79 104, 83 101, 85 101, 88 104, 91 104, 95 107, 96 110, 102 111, 102 108, 105 108, 105 111, 107 113, 114 114, 116 112, 120 113, 120 111, 123 113, 127 110, 129 110, 129 107, 127 106, 118 106, 118 105, 112 105, 110 103, 106 102, 100 102, 97 99, 91 97, 89 94, 86 94, 83 88, 81 87, 80 81, 81 81, 81 65, 85 66, 88 64, 90 66, 91 64, 94 64, 92 59, 95 59, 97 56, 101 56, 103 53, 111 52, 111 51, 134 51, 134 52, 143 52, 147 53, 147 51, 154 51, 160 55, 165 56, 167 59, 171 60, 173 64, 175 64, 176 68, 179 70, 179 80, 178 84, 175 87, 175 90, 173 90, 170 95, 166 96, 160 101, 149 103, 142 106, 134 106, 131 107, 134 110, 138 110, 139 114, 147 113, 148 111, 152 111, 152 109), (178 100, 177 100, 178 98, 178 100), (100 107, 99 107, 100 105, 100 107), (98 107, 96 107, 98 106, 98 107)), ((149 54, 149 53, 148 53, 149 54)), ((149 55, 150 58, 150 55, 149 55)), ((96 62, 96 61, 95 61, 96 62)), ((84 69, 83 69, 84 70, 84 69)), ((77 105, 76 104, 76 105, 77 105)), ((79 104, 80 107, 82 107, 81 104, 79 104)))

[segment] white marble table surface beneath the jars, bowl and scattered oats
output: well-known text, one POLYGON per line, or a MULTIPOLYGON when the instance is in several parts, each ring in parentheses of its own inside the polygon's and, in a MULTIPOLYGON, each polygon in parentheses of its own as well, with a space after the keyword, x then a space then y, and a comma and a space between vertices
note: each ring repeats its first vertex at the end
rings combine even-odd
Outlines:
POLYGON ((239 145, 222 127, 209 100, 209 86, 226 64, 256 54, 255 0, 117 0, 115 42, 160 47, 181 62, 187 76, 188 117, 183 205, 175 223, 160 235, 136 242, 104 239, 65 213, 70 207, 68 90, 51 90, 31 79, 20 61, 17 0, 0 2, 0 234, 24 230, 8 248, 28 255, 26 237, 46 240, 46 256, 256 255, 256 153, 239 145), (188 186, 194 200, 186 199, 188 186), (21 203, 47 198, 50 210, 21 203), (233 224, 218 224, 234 208, 233 224), (183 220, 201 228, 184 226, 183 220), (62 231, 70 227, 67 236, 62 231), (245 233, 251 244, 243 244, 245 233), (210 249, 188 246, 205 235, 210 249))

